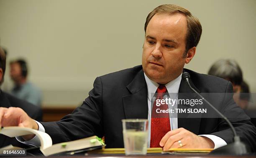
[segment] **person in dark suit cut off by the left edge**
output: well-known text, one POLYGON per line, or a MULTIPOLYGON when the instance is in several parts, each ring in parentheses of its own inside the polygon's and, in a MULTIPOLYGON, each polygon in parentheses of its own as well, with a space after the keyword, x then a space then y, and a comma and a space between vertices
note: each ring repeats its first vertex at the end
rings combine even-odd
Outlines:
MULTIPOLYGON (((6 56, 3 49, 0 47, 0 85, 4 81, 6 56)), ((30 104, 24 100, 18 99, 13 95, 5 93, 0 89, 0 107, 19 107, 27 112, 27 114, 37 121, 42 121, 42 110, 40 107, 30 104)), ((23 143, 18 142, 15 138, 10 138, 0 134, 0 148, 7 145, 24 147, 23 143)))

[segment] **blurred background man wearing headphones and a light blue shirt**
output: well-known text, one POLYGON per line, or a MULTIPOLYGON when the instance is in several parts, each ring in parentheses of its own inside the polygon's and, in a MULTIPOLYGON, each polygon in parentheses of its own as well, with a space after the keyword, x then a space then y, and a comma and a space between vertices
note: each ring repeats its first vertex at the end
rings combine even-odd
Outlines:
POLYGON ((15 86, 11 91, 15 97, 32 104, 41 105, 41 92, 34 84, 28 82, 28 68, 26 61, 18 59, 10 62, 10 77, 15 86))

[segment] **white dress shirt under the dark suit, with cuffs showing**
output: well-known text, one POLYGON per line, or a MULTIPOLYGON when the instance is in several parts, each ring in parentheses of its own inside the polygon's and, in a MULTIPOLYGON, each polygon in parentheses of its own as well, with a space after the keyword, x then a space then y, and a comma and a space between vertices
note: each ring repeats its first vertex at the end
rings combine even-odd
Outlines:
MULTIPOLYGON (((144 73, 145 79, 146 79, 146 84, 147 84, 147 88, 148 88, 148 140, 150 140, 150 127, 151 127, 151 100, 154 99, 154 93, 156 92, 156 89, 159 87, 159 84, 152 81, 151 79, 148 78, 148 76, 146 76, 146 74, 144 73), (152 97, 151 97, 152 96, 152 97)), ((178 92, 179 92, 179 85, 180 82, 182 80, 182 74, 180 74, 176 79, 172 80, 171 82, 165 84, 165 87, 169 93, 169 97, 172 98, 177 98, 178 97, 178 92)), ((174 106, 169 106, 168 108, 172 109, 172 108, 177 108, 177 104, 174 106)), ((178 118, 177 116, 175 116, 175 114, 169 113, 169 118, 170 118, 170 125, 171 125, 171 129, 170 130, 174 130, 178 128, 178 118)), ((44 126, 40 123, 37 122, 38 127, 39 127, 39 131, 41 132, 45 132, 44 126)), ((200 135, 200 136, 204 136, 209 138, 210 140, 213 141, 214 143, 214 149, 216 148, 220 148, 221 146, 227 145, 227 143, 225 142, 225 140, 223 140, 222 138, 216 136, 216 135, 200 135)), ((22 139, 22 137, 16 137, 16 139, 24 144, 27 145, 33 145, 33 146, 37 146, 39 147, 40 145, 40 140, 37 138, 37 136, 35 136, 34 138, 32 138, 31 140, 28 141, 24 141, 22 139)), ((150 146, 150 141, 148 141, 148 147, 150 146)))

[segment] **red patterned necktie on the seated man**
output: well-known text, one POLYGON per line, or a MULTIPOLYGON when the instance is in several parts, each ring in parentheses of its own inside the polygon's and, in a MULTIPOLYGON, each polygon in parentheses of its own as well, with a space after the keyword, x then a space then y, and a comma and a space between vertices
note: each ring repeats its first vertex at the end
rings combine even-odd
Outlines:
MULTIPOLYGON (((164 99, 164 93, 167 92, 167 89, 164 85, 160 85, 157 90, 156 99, 164 99)), ((160 102, 161 103, 161 102, 160 102)), ((154 102, 152 112, 151 112, 151 139, 150 139, 150 148, 161 147, 159 145, 161 139, 164 135, 171 130, 169 113, 157 113, 156 109, 167 110, 167 104, 161 104, 156 106, 156 100, 154 102)), ((158 110, 159 111, 159 110, 158 110)))

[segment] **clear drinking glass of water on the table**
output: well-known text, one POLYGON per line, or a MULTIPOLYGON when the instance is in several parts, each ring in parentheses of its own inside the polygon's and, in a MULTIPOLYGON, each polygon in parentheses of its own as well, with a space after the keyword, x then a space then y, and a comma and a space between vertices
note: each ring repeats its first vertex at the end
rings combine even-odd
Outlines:
POLYGON ((124 119, 122 123, 125 155, 146 155, 148 146, 148 120, 124 119))

